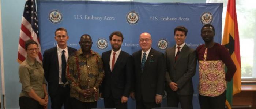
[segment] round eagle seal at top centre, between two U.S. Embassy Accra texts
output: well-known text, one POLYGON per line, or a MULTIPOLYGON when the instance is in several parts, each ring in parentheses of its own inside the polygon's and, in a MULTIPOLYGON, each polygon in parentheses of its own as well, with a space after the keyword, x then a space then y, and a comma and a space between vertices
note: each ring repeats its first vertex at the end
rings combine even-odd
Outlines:
POLYGON ((126 21, 131 25, 135 25, 139 22, 139 14, 135 11, 130 11, 126 14, 126 21))

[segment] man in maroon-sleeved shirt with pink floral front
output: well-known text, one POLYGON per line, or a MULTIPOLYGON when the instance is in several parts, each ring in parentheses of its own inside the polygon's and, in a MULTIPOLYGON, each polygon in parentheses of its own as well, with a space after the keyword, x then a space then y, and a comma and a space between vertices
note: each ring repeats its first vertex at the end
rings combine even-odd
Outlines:
POLYGON ((225 109, 226 82, 231 81, 236 66, 228 49, 215 43, 215 29, 206 24, 201 29, 203 45, 196 48, 199 61, 199 104, 201 109, 225 109), (225 73, 225 66, 227 73, 225 73))

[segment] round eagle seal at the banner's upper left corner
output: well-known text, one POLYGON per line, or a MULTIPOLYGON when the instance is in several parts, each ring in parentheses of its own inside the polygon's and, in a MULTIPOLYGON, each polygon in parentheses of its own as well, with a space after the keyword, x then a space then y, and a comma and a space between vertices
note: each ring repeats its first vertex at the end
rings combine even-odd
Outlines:
POLYGON ((58 24, 62 21, 63 16, 62 16, 62 13, 60 11, 54 9, 54 10, 49 12, 48 18, 49 18, 51 23, 58 24))

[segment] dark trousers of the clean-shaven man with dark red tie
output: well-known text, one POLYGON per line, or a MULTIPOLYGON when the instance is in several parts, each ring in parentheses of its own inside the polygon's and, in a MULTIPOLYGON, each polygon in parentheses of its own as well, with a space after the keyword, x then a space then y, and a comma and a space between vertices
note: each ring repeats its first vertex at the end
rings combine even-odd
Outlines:
POLYGON ((182 109, 193 109, 193 94, 191 95, 178 95, 177 92, 167 92, 167 105, 168 107, 178 107, 180 102, 182 109))

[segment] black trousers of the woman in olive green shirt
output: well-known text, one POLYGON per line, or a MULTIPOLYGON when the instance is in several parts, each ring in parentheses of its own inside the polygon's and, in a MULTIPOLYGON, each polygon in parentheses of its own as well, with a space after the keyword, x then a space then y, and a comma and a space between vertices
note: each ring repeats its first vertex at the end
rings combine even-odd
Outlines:
POLYGON ((19 107, 20 109, 44 109, 38 101, 29 97, 19 97, 19 107))

